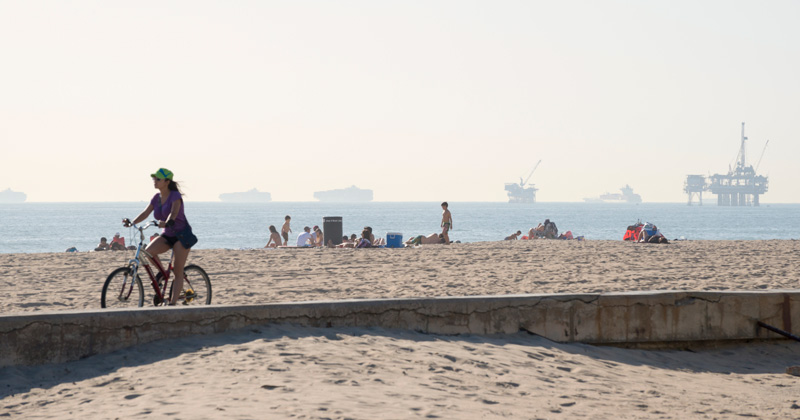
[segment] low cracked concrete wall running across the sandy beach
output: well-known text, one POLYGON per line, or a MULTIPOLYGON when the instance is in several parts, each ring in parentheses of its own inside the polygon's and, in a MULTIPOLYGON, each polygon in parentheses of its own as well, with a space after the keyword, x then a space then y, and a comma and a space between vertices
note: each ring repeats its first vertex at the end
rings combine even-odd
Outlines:
POLYGON ((61 363, 171 337, 272 323, 383 327, 435 334, 520 330, 558 342, 606 345, 781 338, 800 327, 800 291, 658 291, 608 294, 345 300, 0 317, 0 367, 61 363))

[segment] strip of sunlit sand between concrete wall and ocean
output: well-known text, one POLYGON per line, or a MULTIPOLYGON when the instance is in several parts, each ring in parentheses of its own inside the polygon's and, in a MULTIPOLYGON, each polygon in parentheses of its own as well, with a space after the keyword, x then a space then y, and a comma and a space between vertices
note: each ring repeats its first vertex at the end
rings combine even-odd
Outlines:
MULTIPOLYGON (((0 312, 100 308, 132 252, 0 254, 0 312)), ((410 249, 192 251, 213 304, 634 290, 795 289, 798 241, 502 241, 410 249)), ((152 290, 145 279, 146 296, 152 290)))

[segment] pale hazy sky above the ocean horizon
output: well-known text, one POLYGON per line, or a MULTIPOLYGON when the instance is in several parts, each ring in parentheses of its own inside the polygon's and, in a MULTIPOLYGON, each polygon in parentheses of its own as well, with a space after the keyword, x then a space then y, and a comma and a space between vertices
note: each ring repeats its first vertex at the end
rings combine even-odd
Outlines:
MULTIPOLYGON (((0 0, 0 190, 276 201, 686 200, 741 123, 800 201, 797 1, 0 0)), ((713 196, 708 196, 709 198, 713 196)))

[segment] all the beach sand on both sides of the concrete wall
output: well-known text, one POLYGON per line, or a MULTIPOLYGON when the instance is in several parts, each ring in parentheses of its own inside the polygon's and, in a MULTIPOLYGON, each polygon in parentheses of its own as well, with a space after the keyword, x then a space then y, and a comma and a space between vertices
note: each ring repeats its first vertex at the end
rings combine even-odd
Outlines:
MULTIPOLYGON (((214 304, 632 290, 795 289, 797 241, 506 241, 200 250, 214 304)), ((99 308, 130 254, 0 255, 4 315, 99 308)), ((147 296, 150 296, 148 292, 147 296)), ((541 337, 262 326, 0 369, 10 418, 800 418, 800 343, 692 351, 541 337)))

